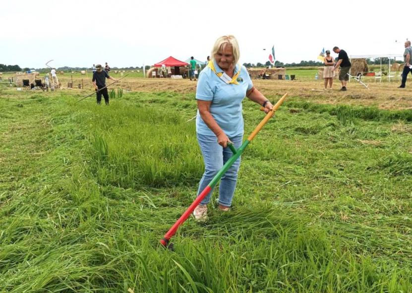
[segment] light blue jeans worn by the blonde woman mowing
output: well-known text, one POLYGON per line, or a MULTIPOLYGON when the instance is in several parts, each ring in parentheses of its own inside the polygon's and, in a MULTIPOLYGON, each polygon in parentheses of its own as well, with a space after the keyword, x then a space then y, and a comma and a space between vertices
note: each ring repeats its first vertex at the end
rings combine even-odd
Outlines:
MULTIPOLYGON (((235 148, 242 145, 243 136, 236 136, 229 138, 234 144, 235 148)), ((206 186, 212 181, 213 177, 222 169, 223 165, 233 155, 229 147, 222 147, 218 144, 217 137, 197 134, 197 141, 203 154, 203 161, 205 162, 205 173, 199 183, 199 195, 206 186)), ((219 186, 219 204, 224 206, 231 206, 232 198, 235 193, 237 172, 239 171, 240 157, 233 163, 229 170, 223 175, 219 186)), ((213 194, 213 189, 208 195, 203 198, 200 204, 207 204, 213 194)))

